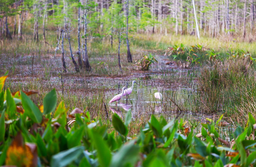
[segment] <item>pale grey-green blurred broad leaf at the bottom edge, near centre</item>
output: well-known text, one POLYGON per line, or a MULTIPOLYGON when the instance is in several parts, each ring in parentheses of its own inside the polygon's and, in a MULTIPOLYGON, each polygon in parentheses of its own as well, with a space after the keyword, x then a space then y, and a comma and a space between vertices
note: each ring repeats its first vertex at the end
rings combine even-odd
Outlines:
POLYGON ((123 145, 118 152, 112 157, 112 167, 134 166, 139 159, 140 147, 131 141, 128 144, 123 145))

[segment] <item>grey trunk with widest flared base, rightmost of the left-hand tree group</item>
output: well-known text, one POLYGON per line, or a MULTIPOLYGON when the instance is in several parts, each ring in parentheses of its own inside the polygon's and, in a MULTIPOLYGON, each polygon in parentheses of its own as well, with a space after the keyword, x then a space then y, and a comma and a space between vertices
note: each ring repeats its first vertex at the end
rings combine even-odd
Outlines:
MULTIPOLYGON (((87 6, 87 0, 86 0, 86 6, 87 6)), ((83 64, 86 69, 86 71, 91 71, 91 66, 88 59, 88 53, 87 53, 87 9, 85 9, 84 13, 84 55, 83 55, 83 64)))

